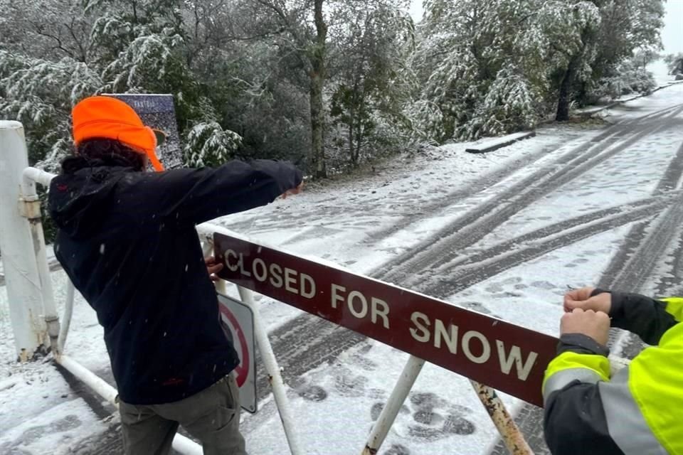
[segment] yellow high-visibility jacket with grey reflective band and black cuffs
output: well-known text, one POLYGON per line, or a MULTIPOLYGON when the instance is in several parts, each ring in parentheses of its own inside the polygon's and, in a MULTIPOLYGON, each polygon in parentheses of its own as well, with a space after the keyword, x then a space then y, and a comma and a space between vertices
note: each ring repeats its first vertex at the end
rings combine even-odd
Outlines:
POLYGON ((610 377, 605 346, 561 336, 543 383, 546 443, 554 455, 683 455, 683 298, 611 294, 612 326, 652 346, 610 377))

